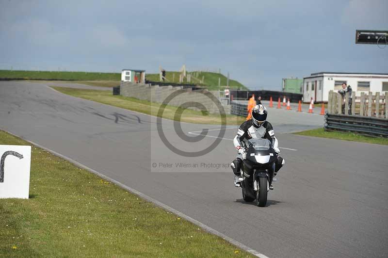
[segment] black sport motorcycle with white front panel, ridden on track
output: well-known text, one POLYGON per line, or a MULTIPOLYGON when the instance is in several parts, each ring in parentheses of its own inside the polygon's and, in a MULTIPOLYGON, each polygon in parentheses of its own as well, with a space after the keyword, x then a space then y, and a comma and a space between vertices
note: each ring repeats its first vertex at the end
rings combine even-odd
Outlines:
POLYGON ((244 201, 253 202, 256 200, 259 207, 264 207, 267 204, 267 193, 273 179, 275 179, 276 159, 277 154, 268 139, 248 140, 241 167, 242 177, 239 179, 244 201))

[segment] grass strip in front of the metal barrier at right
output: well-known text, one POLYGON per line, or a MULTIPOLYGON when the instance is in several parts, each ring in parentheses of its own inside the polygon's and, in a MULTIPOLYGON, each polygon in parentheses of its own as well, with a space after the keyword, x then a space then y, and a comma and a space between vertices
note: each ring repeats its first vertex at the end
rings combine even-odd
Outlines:
POLYGON ((294 134, 339 139, 352 142, 388 145, 388 139, 382 137, 368 137, 352 132, 325 131, 323 128, 295 132, 294 134))

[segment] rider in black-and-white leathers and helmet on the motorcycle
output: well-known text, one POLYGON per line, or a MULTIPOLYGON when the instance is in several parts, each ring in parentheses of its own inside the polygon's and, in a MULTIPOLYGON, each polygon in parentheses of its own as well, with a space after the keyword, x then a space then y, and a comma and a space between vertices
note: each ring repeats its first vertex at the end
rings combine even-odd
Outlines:
MULTIPOLYGON (((236 159, 230 163, 230 165, 234 173, 234 186, 236 187, 241 187, 241 182, 239 181, 239 178, 241 177, 240 169, 243 160, 242 157, 245 153, 245 146, 248 142, 248 139, 266 138, 272 143, 275 152, 278 154, 277 160, 275 161, 274 176, 277 174, 277 171, 279 171, 279 169, 285 164, 284 159, 279 156, 280 150, 277 147, 278 142, 271 123, 267 121, 267 113, 267 109, 262 104, 256 105, 252 110, 251 119, 242 123, 239 130, 237 131, 236 137, 233 139, 233 144, 238 151, 238 155, 236 159)), ((272 186, 272 177, 270 189, 274 190, 274 187, 272 186)))

